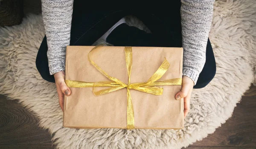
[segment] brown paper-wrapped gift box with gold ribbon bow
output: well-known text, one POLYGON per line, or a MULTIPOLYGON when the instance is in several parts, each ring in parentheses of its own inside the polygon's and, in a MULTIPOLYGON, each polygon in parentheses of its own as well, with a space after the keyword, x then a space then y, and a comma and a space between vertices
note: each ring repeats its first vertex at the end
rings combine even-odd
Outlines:
POLYGON ((67 46, 63 127, 182 129, 183 48, 67 46))

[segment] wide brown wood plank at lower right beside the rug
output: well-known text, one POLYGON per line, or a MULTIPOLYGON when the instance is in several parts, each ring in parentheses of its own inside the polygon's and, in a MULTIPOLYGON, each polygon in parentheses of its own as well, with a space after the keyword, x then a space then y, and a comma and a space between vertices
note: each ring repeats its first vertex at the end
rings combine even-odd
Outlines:
POLYGON ((256 96, 243 96, 225 124, 191 146, 256 146, 255 107, 256 96))

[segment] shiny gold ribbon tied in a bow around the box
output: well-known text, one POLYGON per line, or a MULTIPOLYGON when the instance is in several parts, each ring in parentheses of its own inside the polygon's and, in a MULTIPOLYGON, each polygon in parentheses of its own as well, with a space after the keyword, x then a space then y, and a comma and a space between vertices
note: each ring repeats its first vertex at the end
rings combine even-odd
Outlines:
POLYGON ((106 93, 110 93, 116 90, 120 90, 122 88, 127 88, 127 129, 134 129, 134 110, 133 105, 131 101, 131 94, 130 90, 138 90, 141 92, 153 94, 153 95, 162 95, 163 94, 163 88, 157 87, 160 85, 182 85, 182 78, 175 78, 175 79, 168 79, 163 81, 157 81, 160 79, 168 70, 170 63, 164 58, 162 65, 158 68, 158 70, 151 76, 150 79, 148 79, 147 82, 143 83, 133 83, 130 84, 131 79, 131 67, 132 67, 132 48, 131 47, 125 47, 125 60, 126 60, 126 67, 128 72, 128 84, 125 84, 124 82, 120 81, 117 78, 111 77, 106 73, 104 70, 102 70, 95 62, 93 62, 90 59, 90 53, 103 45, 107 44, 101 44, 95 46, 89 53, 88 53, 88 60, 90 63, 96 67, 99 72, 104 74, 108 79, 111 81, 102 81, 102 82, 82 82, 82 81, 72 81, 72 80, 65 80, 68 87, 93 87, 93 93, 94 95, 102 95, 106 93), (95 91, 95 87, 109 87, 108 89, 103 89, 99 91, 95 91))

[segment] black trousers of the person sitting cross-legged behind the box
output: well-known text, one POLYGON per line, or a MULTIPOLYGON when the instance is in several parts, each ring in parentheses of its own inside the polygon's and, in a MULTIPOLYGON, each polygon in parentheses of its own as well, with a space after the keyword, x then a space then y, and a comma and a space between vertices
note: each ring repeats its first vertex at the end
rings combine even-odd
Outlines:
MULTIPOLYGON (((122 17, 132 15, 141 20, 151 33, 122 24, 111 32, 107 42, 114 46, 182 47, 179 0, 173 2, 168 13, 147 10, 84 11, 84 3, 82 0, 74 1, 70 45, 92 45, 122 17)), ((47 37, 44 37, 38 50, 36 67, 43 79, 55 82, 54 76, 49 75, 47 49, 47 37)), ((215 58, 208 39, 206 63, 194 88, 205 87, 215 72, 215 58)))

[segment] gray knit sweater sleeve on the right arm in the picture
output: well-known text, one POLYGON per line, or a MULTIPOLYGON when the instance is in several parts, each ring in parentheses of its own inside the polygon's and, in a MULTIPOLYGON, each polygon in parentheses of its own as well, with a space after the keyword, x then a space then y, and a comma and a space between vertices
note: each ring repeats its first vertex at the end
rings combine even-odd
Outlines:
POLYGON ((181 0, 183 76, 197 83, 206 60, 206 46, 215 0, 181 0))

